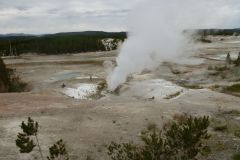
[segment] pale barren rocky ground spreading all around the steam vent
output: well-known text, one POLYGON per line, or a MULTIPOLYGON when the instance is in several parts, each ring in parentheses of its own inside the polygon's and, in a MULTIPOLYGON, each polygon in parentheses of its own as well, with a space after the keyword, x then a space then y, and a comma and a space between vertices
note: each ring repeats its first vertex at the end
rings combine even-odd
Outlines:
POLYGON ((238 83, 240 75, 233 66, 223 71, 215 67, 225 66, 227 52, 236 58, 240 39, 209 39, 213 43, 201 44, 193 55, 196 63, 166 62, 155 71, 133 75, 118 94, 103 91, 97 98, 72 98, 65 89, 104 81, 107 75, 102 63, 114 61, 115 51, 5 59, 29 84, 30 92, 0 94, 0 159, 37 156, 19 154, 15 146, 19 125, 29 116, 40 123, 39 139, 45 155, 48 147, 62 138, 71 160, 86 159, 87 155, 105 160, 106 145, 111 141, 138 140, 147 125, 161 127, 173 115, 183 113, 211 118, 212 153, 204 159, 232 159, 240 145, 240 99, 221 93, 219 88, 238 83))

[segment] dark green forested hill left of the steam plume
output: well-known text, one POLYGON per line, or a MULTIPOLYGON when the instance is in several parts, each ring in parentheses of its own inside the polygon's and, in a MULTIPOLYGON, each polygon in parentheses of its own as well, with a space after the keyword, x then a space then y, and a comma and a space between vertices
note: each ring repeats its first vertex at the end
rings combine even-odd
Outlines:
POLYGON ((65 54, 114 50, 126 32, 68 32, 46 35, 0 35, 0 56, 22 53, 65 54))

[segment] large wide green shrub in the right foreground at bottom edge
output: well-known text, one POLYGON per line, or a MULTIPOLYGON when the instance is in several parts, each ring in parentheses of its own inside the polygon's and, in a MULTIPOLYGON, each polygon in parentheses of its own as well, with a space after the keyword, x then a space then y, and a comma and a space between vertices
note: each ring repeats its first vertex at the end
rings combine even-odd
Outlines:
POLYGON ((199 153, 208 153, 204 141, 208 117, 186 117, 181 122, 171 122, 162 130, 151 128, 142 132, 141 144, 112 142, 108 155, 112 160, 190 160, 199 153))

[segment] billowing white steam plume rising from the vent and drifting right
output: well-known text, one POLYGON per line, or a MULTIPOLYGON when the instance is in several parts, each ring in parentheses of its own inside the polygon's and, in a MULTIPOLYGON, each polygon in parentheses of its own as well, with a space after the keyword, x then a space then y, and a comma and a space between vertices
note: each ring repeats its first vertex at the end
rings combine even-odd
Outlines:
POLYGON ((107 77, 108 89, 116 89, 128 75, 187 54, 194 46, 183 35, 185 29, 236 27, 240 6, 235 4, 237 0, 143 0, 129 15, 128 39, 107 77))

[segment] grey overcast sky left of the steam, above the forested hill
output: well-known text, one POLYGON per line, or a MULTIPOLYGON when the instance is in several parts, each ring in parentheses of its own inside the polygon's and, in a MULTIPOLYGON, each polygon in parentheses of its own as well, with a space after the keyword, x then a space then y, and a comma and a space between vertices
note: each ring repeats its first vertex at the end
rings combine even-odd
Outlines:
POLYGON ((0 34, 125 31, 141 0, 0 0, 0 34))

